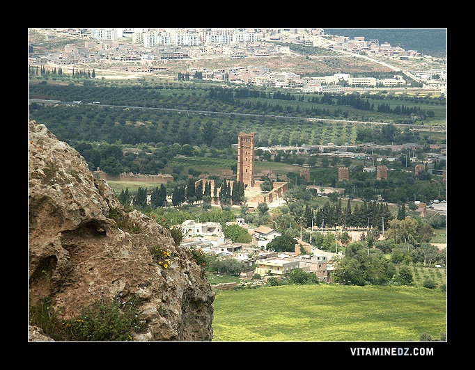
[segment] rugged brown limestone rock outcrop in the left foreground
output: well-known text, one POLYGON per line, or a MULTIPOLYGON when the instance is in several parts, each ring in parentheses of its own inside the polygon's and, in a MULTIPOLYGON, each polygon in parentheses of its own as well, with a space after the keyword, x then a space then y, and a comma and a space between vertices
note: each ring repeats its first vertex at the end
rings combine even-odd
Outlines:
POLYGON ((65 318, 121 295, 138 300, 146 332, 135 341, 211 341, 213 302, 205 272, 169 230, 126 213, 85 159, 44 124, 29 121, 29 298, 54 298, 65 318), (169 252, 170 266, 153 258, 169 252))

